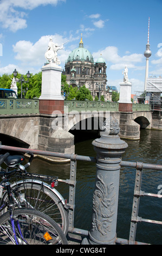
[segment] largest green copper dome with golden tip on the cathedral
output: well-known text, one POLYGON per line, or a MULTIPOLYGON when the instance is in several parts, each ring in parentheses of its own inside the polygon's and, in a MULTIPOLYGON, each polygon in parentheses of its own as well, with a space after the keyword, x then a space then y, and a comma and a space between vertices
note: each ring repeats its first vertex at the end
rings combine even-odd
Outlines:
POLYGON ((94 59, 93 59, 92 54, 86 48, 83 47, 82 38, 81 38, 81 41, 79 43, 79 47, 74 49, 69 54, 69 57, 67 59, 67 63, 68 62, 74 62, 74 61, 94 63, 94 59))

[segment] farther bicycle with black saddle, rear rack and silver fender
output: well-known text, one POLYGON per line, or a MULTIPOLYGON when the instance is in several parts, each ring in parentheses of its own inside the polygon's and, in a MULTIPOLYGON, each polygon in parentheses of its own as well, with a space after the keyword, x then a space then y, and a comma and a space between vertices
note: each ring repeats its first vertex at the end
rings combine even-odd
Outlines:
MULTIPOLYGON (((58 185, 58 177, 28 173, 26 169, 34 158, 33 153, 28 152, 28 154, 30 159, 24 166, 22 162, 25 158, 22 155, 10 155, 5 159, 7 171, 10 172, 14 168, 15 176, 19 179, 12 182, 11 188, 17 194, 19 202, 23 200, 22 205, 25 204, 25 207, 34 208, 50 216, 60 225, 63 233, 67 235, 69 223, 68 205, 61 194, 54 188, 58 185)), ((0 198, 2 198, 1 206, 8 199, 3 187, 0 187, 0 198)))

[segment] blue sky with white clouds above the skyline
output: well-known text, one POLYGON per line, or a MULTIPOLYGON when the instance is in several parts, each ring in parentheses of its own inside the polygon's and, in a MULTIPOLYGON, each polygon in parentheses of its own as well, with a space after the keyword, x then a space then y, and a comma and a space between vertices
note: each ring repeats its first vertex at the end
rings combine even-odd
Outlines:
POLYGON ((0 0, 0 75, 41 71, 50 37, 63 49, 61 68, 70 52, 84 47, 94 61, 107 64, 107 86, 120 91, 128 68, 132 94, 144 91, 148 18, 148 76, 162 76, 162 0, 0 0))

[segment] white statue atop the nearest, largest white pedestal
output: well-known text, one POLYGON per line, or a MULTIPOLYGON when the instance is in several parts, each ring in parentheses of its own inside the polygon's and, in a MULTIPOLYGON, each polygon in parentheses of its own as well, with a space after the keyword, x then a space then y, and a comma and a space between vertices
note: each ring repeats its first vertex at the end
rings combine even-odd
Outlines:
POLYGON ((50 38, 48 49, 45 53, 45 58, 49 60, 50 63, 52 62, 52 63, 55 63, 56 65, 60 65, 61 62, 57 57, 57 51, 61 50, 64 44, 65 42, 62 45, 57 45, 53 42, 53 39, 50 38))

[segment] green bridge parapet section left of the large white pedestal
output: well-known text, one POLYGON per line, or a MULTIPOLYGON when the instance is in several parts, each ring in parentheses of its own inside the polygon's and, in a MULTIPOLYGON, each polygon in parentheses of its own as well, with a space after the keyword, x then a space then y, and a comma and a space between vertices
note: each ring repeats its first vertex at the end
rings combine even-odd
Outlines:
POLYGON ((0 114, 38 114, 39 100, 35 99, 8 99, 0 100, 0 114))

